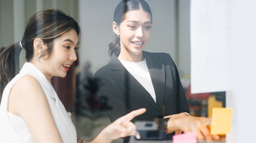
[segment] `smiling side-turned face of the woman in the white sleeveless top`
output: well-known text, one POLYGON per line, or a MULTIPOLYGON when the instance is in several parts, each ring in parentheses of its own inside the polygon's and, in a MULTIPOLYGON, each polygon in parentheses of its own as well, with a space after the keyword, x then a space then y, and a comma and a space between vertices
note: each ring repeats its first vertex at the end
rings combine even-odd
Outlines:
MULTIPOLYGON (((50 79, 52 76, 65 77, 71 64, 77 60, 79 39, 74 29, 65 32, 53 41, 53 51, 42 61, 43 73, 50 79)), ((41 61, 41 60, 40 60, 41 61)))

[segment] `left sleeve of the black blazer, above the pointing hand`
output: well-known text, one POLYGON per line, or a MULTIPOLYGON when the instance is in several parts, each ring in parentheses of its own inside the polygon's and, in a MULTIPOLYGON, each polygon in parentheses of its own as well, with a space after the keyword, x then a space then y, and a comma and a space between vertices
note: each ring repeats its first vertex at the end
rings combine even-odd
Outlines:
POLYGON ((111 122, 130 112, 121 90, 106 73, 104 76, 95 73, 94 84, 98 86, 97 95, 111 122))

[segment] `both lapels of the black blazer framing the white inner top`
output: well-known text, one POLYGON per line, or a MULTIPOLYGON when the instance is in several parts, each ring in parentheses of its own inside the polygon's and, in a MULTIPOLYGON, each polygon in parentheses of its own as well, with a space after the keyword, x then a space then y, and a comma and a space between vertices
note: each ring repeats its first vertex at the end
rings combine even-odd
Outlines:
POLYGON ((149 92, 144 89, 144 87, 125 69, 121 61, 118 60, 119 53, 112 55, 109 61, 109 67, 114 72, 117 79, 120 80, 129 90, 129 92, 134 92, 145 101, 149 102, 150 105, 159 109, 162 109, 162 104, 164 102, 165 95, 165 66, 164 58, 159 58, 158 54, 153 54, 150 52, 143 51, 143 56, 147 61, 147 68, 149 69, 149 74, 155 89, 156 104, 149 92), (127 79, 129 79, 127 81, 127 79))

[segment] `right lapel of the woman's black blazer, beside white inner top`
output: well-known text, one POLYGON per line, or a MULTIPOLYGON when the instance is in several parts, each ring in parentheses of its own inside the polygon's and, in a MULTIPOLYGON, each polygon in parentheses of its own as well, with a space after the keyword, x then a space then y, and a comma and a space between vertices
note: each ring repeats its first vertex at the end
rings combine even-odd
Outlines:
MULTIPOLYGON (((165 96, 165 66, 164 58, 158 57, 156 54, 150 54, 149 52, 143 52, 144 57, 147 60, 147 68, 155 89, 156 104, 159 109, 162 108, 165 96)), ((164 111, 162 111, 163 113, 164 111)))

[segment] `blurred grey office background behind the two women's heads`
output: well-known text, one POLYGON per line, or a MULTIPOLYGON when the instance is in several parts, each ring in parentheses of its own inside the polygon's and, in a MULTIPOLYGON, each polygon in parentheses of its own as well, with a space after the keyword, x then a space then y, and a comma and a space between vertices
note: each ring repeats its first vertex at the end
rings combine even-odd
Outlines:
MULTIPOLYGON (((119 0, 1 0, 0 45, 19 42, 32 14, 46 8, 59 8, 74 17, 82 27, 80 67, 92 63, 95 72, 109 60, 108 45, 115 39, 113 12, 119 0)), ((190 74, 189 1, 147 1, 153 13, 152 36, 146 51, 168 52, 181 74, 190 74)), ((24 53, 21 54, 21 61, 24 53)))

